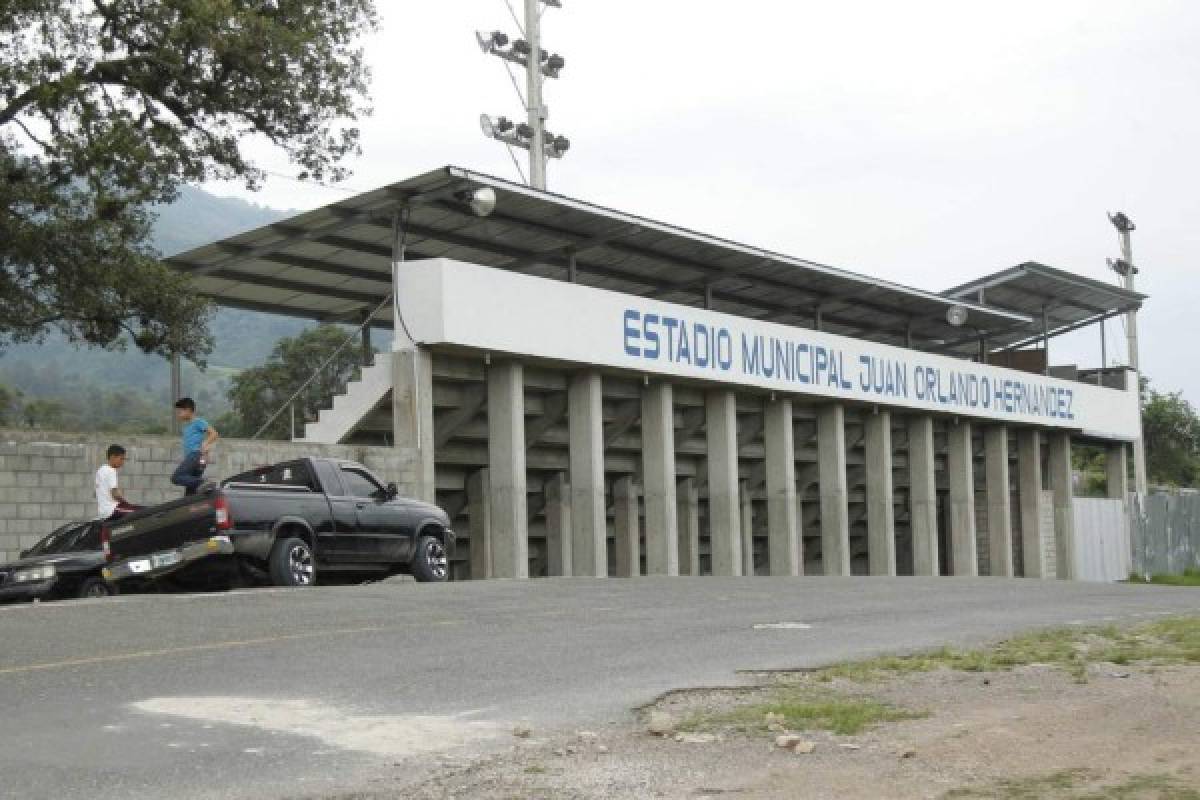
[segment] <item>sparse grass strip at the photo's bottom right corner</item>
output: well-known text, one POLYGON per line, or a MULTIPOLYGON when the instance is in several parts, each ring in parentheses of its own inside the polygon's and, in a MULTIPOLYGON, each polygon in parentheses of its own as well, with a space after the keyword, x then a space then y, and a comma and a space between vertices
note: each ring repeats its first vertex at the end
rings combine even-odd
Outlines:
POLYGON ((1008 778, 984 787, 952 789, 943 800, 1200 800, 1200 790, 1174 775, 1134 775, 1121 783, 1097 786, 1091 770, 1061 770, 1049 775, 1008 778))

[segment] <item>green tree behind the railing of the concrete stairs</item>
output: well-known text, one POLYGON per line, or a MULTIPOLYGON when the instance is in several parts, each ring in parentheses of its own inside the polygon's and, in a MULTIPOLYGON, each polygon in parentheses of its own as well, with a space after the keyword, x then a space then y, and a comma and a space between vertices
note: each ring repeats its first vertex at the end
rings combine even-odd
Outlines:
MULTIPOLYGON (((342 347, 347 336, 341 327, 319 325, 294 338, 280 339, 266 363, 245 369, 233 379, 229 387, 233 411, 217 422, 217 429, 227 435, 253 435, 312 378, 320 365, 332 357, 332 362, 296 398, 296 433, 302 433, 301 426, 316 420, 323 408, 332 405, 334 397, 344 392, 346 385, 359 375, 361 350, 354 343, 342 347)), ((290 413, 284 409, 263 435, 289 439, 290 413)))

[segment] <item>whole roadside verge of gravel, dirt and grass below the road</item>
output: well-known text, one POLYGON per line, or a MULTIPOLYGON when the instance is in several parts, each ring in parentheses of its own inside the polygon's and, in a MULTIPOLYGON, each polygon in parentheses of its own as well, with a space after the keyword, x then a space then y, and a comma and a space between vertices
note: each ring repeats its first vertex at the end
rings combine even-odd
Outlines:
POLYGON ((517 728, 500 751, 346 800, 1200 800, 1200 618, 1168 625, 1169 642, 1162 626, 1064 630, 671 692, 623 723, 517 728))

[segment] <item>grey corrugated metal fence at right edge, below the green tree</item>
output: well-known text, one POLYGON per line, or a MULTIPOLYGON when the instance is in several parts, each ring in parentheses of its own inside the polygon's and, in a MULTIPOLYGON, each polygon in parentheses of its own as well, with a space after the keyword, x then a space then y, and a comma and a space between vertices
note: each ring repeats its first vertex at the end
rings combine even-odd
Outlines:
POLYGON ((1200 495, 1130 495, 1136 575, 1182 575, 1200 569, 1200 495))

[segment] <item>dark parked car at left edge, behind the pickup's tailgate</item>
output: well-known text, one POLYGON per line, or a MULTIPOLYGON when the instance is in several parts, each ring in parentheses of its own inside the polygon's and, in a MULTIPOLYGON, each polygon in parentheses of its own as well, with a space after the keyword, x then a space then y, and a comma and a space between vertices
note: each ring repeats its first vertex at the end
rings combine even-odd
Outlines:
POLYGON ((72 522, 20 554, 0 564, 0 601, 59 597, 106 597, 114 593, 101 576, 104 553, 101 523, 72 522))

